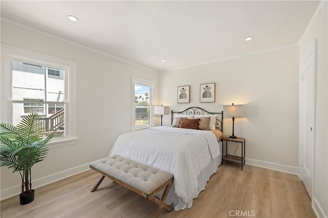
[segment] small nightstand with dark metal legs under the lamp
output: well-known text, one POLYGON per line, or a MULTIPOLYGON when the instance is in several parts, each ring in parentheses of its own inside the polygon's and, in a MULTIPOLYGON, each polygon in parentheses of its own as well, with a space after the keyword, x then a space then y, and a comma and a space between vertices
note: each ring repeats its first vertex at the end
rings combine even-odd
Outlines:
POLYGON ((241 170, 242 165, 245 164, 245 138, 230 138, 229 136, 222 136, 222 166, 223 166, 223 160, 233 161, 237 163, 241 163, 241 170), (223 155, 223 145, 224 141, 226 141, 226 155, 223 155), (241 143, 241 157, 235 156, 235 155, 229 155, 228 154, 228 141, 234 141, 237 143, 241 143))

